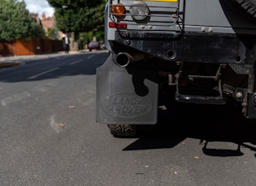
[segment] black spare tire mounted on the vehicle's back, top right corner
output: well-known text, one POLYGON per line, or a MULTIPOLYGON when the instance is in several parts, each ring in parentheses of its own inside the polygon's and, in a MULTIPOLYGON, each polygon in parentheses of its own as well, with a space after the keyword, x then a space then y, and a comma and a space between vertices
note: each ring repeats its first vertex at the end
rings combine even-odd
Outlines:
POLYGON ((226 0, 232 8, 250 22, 256 24, 256 0, 226 0))

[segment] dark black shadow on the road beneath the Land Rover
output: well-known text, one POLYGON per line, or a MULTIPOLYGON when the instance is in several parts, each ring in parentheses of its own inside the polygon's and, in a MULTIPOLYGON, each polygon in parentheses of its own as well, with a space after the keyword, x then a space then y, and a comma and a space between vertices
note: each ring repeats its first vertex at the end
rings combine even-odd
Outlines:
POLYGON ((157 125, 140 125, 139 139, 124 150, 172 148, 191 137, 198 139, 203 153, 210 156, 241 156, 241 146, 256 152, 256 120, 247 120, 241 107, 180 104, 170 99, 159 100, 157 125), (209 142, 233 142, 237 149, 210 149, 209 142))

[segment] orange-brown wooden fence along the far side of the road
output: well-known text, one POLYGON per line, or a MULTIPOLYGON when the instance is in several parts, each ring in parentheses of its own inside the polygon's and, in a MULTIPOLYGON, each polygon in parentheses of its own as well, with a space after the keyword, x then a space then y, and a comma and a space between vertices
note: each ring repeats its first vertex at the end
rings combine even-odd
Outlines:
POLYGON ((33 39, 0 41, 0 57, 57 53, 63 51, 62 40, 33 39))

